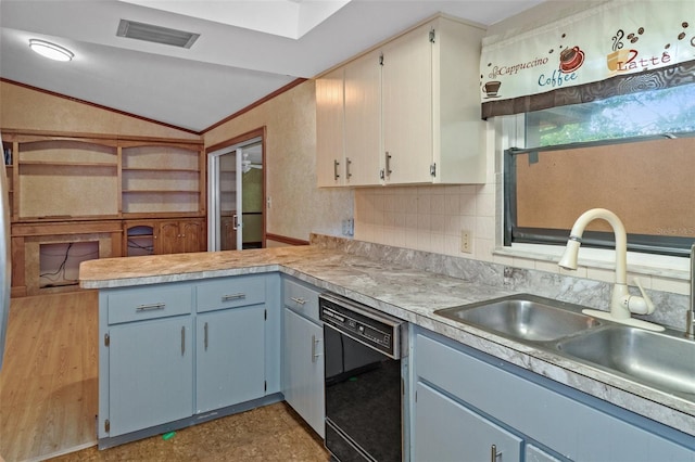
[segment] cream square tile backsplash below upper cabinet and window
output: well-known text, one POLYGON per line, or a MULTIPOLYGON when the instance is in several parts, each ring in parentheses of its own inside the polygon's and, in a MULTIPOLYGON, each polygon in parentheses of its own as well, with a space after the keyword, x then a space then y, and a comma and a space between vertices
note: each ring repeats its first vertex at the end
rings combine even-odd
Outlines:
MULTIPOLYGON (((354 190, 354 239, 407 249, 496 262, 599 282, 615 281, 615 264, 581 266, 569 272, 557 266, 558 256, 533 252, 514 253, 508 247, 495 253, 502 236, 502 175, 488 184, 383 187, 354 190), (462 252, 462 231, 470 236, 470 253, 462 252)), ((582 253, 586 255, 586 251, 582 253)), ((639 275, 645 288, 690 294, 683 275, 685 259, 674 271, 653 267, 655 258, 628 256, 629 281, 639 275)))

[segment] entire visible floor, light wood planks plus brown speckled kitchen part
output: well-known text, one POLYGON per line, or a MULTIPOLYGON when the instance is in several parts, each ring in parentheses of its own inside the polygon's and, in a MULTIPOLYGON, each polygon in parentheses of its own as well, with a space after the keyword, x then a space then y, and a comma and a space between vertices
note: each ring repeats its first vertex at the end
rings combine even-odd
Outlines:
POLYGON ((329 460, 285 402, 102 451, 97 411, 97 293, 13 298, 0 372, 0 461, 329 460))

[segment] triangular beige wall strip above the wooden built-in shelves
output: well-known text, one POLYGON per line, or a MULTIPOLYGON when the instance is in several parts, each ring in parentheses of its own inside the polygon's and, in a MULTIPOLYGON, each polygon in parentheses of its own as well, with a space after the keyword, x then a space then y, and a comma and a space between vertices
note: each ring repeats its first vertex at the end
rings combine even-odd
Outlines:
POLYGON ((0 128, 200 140, 187 131, 4 81, 0 128))

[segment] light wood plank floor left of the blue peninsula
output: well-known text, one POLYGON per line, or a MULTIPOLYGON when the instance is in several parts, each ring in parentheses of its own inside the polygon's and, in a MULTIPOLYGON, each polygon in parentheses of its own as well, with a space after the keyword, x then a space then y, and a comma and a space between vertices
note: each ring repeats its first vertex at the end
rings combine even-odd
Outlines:
POLYGON ((0 372, 0 454, 41 460, 97 442, 96 292, 13 298, 0 372))

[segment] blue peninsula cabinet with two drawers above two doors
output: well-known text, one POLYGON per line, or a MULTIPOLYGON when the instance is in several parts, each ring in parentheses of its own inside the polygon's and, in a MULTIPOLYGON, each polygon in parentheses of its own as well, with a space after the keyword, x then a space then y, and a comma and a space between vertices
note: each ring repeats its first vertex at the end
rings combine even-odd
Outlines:
POLYGON ((281 399, 279 303, 277 274, 100 291, 99 447, 281 399))

